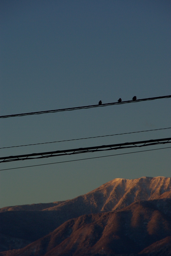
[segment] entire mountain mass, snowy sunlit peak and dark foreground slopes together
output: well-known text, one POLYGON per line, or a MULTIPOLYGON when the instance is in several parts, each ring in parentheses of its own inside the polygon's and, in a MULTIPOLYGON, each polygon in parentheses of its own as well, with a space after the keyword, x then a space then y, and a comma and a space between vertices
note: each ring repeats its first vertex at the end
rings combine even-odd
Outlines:
POLYGON ((72 200, 0 209, 4 256, 171 255, 170 237, 166 177, 114 179, 72 200))

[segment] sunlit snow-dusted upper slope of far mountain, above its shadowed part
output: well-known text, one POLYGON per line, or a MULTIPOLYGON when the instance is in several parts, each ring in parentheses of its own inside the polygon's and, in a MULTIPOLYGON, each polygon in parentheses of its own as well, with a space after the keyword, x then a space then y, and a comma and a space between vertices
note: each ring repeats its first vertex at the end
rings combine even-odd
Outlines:
POLYGON ((72 206, 80 215, 121 209, 138 200, 171 198, 171 178, 142 177, 138 179, 113 179, 93 191, 71 200, 47 204, 19 205, 1 208, 9 210, 61 210, 72 206), (84 210, 86 209, 86 212, 84 210))

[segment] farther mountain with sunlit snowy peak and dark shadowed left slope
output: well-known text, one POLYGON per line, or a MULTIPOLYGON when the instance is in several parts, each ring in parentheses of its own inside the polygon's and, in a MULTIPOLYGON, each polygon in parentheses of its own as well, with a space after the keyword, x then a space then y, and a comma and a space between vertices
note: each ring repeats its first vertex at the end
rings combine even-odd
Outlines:
POLYGON ((0 250, 22 248, 60 228, 70 219, 85 214, 93 216, 92 213, 101 213, 101 216, 104 213, 105 216, 105 212, 124 209, 140 200, 150 200, 152 205, 153 200, 160 199, 158 204, 163 203, 167 214, 166 198, 171 198, 170 178, 142 177, 114 179, 72 200, 1 208, 0 250))

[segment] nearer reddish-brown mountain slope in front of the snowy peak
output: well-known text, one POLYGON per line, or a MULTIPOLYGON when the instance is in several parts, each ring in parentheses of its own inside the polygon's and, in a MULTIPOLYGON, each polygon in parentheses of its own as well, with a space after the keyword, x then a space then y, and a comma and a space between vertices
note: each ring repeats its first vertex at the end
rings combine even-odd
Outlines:
POLYGON ((169 252, 170 236, 171 199, 139 201, 114 212, 66 221, 44 238, 8 255, 145 255, 161 252, 162 245, 169 252))

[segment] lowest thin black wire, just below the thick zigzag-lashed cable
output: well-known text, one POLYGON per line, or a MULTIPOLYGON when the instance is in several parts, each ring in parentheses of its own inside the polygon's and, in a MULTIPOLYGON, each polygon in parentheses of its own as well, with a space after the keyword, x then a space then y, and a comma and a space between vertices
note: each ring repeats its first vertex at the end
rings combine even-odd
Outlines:
MULTIPOLYGON (((171 147, 167 147, 167 148, 171 148, 171 147)), ((152 151, 152 150, 160 150, 160 149, 165 149, 165 148, 155 148, 155 149, 142 150, 142 151, 134 151, 134 152, 129 152, 129 153, 115 154, 115 155, 126 155, 126 154, 133 154, 133 153, 146 152, 146 151, 152 151)), ((55 163, 44 163, 44 164, 37 164, 37 165, 30 165, 30 166, 23 166, 23 167, 15 167, 15 168, 1 169, 0 171, 20 169, 20 168, 27 168, 27 167, 34 167, 34 166, 42 166, 42 165, 50 165, 50 164, 56 164, 56 163, 67 163, 67 162, 74 162, 74 161, 82 161, 82 160, 88 160, 88 159, 94 159, 94 158, 102 158, 102 157, 109 157, 109 156, 114 156, 114 155, 104 155, 104 156, 96 156, 96 157, 91 157, 91 158, 83 158, 83 159, 76 159, 76 160, 69 160, 69 161, 62 161, 62 162, 55 162, 55 163)))

